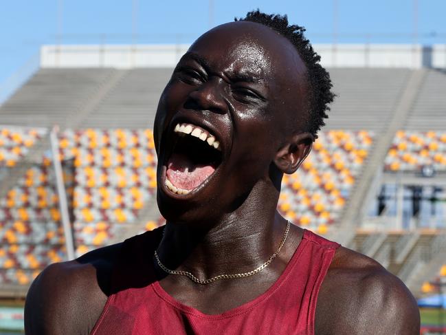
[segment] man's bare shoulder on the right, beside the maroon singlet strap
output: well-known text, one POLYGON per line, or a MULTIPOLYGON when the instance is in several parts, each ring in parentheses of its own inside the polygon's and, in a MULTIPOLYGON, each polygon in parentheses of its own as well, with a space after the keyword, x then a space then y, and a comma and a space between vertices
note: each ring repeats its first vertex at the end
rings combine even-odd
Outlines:
POLYGON ((377 261, 339 248, 322 283, 316 334, 420 334, 416 301, 377 261))

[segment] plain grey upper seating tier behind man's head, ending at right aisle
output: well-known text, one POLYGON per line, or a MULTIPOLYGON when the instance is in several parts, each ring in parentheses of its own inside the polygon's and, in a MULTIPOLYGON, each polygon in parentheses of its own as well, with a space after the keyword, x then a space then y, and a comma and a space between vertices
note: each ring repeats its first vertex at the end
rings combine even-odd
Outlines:
MULTIPOLYGON (((0 106, 3 125, 62 128, 153 127, 172 68, 39 69, 0 106)), ((325 129, 381 132, 388 126, 410 69, 333 68, 337 94, 325 129)))

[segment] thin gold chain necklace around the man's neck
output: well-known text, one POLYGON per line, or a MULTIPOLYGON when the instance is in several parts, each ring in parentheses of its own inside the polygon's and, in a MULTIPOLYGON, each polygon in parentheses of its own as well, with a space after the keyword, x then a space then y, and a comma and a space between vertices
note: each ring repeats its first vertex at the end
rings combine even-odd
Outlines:
POLYGON ((209 278, 209 279, 198 279, 197 277, 195 277, 192 273, 190 273, 188 271, 170 270, 169 268, 166 268, 166 266, 164 266, 164 264, 161 263, 161 261, 159 260, 157 250, 155 250, 155 259, 157 260, 157 264, 158 264, 159 268, 164 270, 164 272, 167 272, 168 274, 178 274, 180 276, 186 276, 190 280, 194 281, 195 283, 199 283, 201 285, 205 285, 205 284, 208 284, 208 283, 213 283, 214 281, 218 281, 220 279, 245 278, 245 277, 253 276, 254 274, 262 271, 264 268, 269 266, 269 264, 271 263, 271 261, 273 261, 273 259, 276 258, 276 256, 280 252, 280 249, 282 249, 282 246, 285 244, 285 241, 287 240, 287 236, 288 236, 288 232, 289 232, 289 227, 290 226, 291 226, 291 224, 288 221, 287 228, 285 228, 285 234, 283 235, 282 241, 280 241, 280 246, 276 250, 276 252, 274 252, 274 254, 271 255, 271 257, 269 257, 269 259, 267 261, 265 261, 265 263, 263 263, 261 266, 259 266, 258 268, 255 268, 254 270, 251 270, 249 272, 234 273, 234 274, 219 274, 218 276, 215 276, 215 277, 212 277, 212 278, 209 278))

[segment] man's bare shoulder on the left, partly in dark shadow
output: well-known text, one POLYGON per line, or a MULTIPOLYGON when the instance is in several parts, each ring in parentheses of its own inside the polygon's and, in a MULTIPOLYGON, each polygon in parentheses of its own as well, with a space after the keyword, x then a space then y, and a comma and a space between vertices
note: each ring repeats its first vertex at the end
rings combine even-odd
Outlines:
POLYGON ((45 268, 27 293, 26 334, 89 334, 107 302, 120 245, 45 268))

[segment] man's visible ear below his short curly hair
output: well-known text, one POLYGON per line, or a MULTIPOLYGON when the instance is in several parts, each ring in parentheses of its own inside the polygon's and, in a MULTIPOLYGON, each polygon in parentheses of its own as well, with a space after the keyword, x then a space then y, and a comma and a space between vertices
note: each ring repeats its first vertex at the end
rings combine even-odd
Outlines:
POLYGON ((313 146, 314 136, 311 133, 293 135, 283 147, 279 149, 274 164, 282 173, 294 173, 305 160, 313 146))

